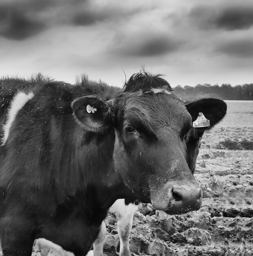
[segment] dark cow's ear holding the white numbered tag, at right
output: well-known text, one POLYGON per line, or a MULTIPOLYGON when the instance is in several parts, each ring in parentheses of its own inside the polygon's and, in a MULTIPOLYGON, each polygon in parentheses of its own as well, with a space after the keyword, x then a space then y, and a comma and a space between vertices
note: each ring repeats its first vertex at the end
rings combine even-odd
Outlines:
POLYGON ((197 119, 199 112, 202 112, 206 119, 210 121, 209 126, 196 128, 200 133, 211 129, 226 115, 226 103, 220 99, 200 99, 192 101, 185 106, 191 114, 192 122, 197 119))

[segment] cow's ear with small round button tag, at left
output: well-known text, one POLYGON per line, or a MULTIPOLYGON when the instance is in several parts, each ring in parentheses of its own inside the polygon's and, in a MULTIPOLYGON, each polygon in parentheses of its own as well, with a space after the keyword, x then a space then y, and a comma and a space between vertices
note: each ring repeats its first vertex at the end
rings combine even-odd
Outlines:
POLYGON ((99 97, 75 99, 71 107, 78 123, 91 132, 100 132, 104 127, 113 125, 112 106, 99 97))

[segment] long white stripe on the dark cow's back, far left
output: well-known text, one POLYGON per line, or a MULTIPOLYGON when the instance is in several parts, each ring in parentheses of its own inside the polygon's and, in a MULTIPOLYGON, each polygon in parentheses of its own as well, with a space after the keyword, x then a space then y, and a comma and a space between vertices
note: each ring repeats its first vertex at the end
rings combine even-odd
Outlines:
POLYGON ((1 139, 2 145, 4 145, 8 139, 9 132, 11 129, 11 124, 16 118, 16 115, 20 109, 23 108, 24 104, 27 103, 31 98, 33 98, 34 94, 29 92, 28 94, 24 92, 18 92, 11 101, 7 112, 6 123, 3 126, 4 137, 1 139))

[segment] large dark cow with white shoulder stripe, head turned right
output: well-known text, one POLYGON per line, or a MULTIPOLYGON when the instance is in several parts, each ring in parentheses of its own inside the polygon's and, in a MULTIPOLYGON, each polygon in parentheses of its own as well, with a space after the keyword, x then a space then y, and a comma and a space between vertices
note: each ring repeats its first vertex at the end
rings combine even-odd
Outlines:
POLYGON ((0 81, 4 256, 31 255, 37 238, 86 255, 120 198, 167 213, 201 206, 186 154, 199 106, 187 110, 167 81, 146 72, 122 90, 84 80, 0 81))

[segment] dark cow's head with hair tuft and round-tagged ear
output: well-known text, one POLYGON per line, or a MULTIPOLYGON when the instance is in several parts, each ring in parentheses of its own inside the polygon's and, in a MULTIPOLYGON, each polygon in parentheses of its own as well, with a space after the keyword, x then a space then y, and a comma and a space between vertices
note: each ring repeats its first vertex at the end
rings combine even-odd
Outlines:
POLYGON ((72 108, 89 131, 115 129, 115 170, 134 197, 166 212, 186 212, 202 202, 187 157, 188 133, 201 106, 184 106, 171 91, 160 76, 137 74, 114 99, 82 97, 72 108))

